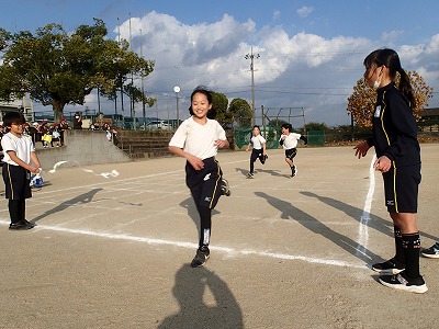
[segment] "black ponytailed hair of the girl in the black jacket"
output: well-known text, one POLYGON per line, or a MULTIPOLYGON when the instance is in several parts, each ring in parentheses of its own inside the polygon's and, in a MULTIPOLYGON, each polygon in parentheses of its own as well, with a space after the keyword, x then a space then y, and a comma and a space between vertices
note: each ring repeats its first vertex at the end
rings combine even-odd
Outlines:
POLYGON ((408 79, 405 70, 402 68, 399 56, 395 50, 389 48, 376 49, 370 53, 368 57, 364 58, 363 64, 367 69, 370 69, 373 64, 378 67, 384 65, 389 69, 389 76, 392 80, 395 80, 396 73, 399 73, 398 89, 406 97, 412 110, 416 107, 416 100, 413 94, 410 80, 408 79))

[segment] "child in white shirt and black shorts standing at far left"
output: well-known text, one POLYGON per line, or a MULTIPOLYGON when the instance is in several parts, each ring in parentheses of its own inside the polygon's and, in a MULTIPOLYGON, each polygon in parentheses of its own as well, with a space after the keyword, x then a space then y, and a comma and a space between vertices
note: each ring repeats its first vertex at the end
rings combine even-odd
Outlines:
POLYGON ((25 219, 26 198, 32 197, 31 172, 42 171, 32 137, 23 134, 24 124, 25 118, 19 112, 9 112, 3 116, 3 125, 9 133, 1 139, 4 155, 2 175, 4 196, 9 198, 9 229, 13 230, 31 229, 35 226, 25 219))

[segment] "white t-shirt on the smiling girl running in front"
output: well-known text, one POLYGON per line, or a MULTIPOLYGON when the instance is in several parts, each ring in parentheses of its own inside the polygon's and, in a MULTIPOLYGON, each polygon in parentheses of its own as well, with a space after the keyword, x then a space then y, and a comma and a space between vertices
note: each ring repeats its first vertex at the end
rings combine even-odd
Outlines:
POLYGON ((194 122, 193 117, 184 120, 173 134, 169 146, 182 148, 202 160, 214 157, 218 152, 216 139, 226 140, 226 132, 216 120, 207 118, 205 125, 194 122))

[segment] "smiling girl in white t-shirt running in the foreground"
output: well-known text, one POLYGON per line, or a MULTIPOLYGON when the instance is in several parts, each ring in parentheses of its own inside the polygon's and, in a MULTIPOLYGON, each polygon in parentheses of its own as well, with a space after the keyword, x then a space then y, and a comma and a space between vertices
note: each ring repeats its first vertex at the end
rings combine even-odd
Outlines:
POLYGON ((200 268, 210 257, 212 209, 222 194, 230 195, 215 159, 218 148, 228 147, 228 141, 219 123, 211 118, 215 112, 206 88, 198 87, 192 92, 189 113, 191 117, 182 122, 169 141, 169 150, 187 159, 185 182, 201 220, 199 248, 191 266, 200 268))

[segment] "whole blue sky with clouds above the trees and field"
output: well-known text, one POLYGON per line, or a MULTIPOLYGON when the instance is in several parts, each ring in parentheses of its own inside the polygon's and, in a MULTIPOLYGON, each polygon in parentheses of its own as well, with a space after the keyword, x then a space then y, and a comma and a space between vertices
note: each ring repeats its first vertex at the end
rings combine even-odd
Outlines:
MULTIPOLYGON (((134 52, 155 60, 144 79, 148 97, 157 99, 146 116, 189 115, 196 86, 241 98, 261 106, 269 118, 290 116, 328 126, 350 124, 347 99, 362 77, 363 59, 372 50, 395 49, 406 70, 416 70, 434 88, 429 107, 439 106, 439 1, 437 0, 0 0, 0 26, 31 31, 59 23, 66 31, 105 22, 109 38, 131 41, 134 52), (142 50, 140 50, 142 47, 142 50), (254 80, 251 59, 254 55, 254 80), (248 57, 248 56, 247 56, 248 57), (250 56, 251 57, 251 56, 250 56), (254 81, 254 84, 252 84, 254 81), (176 94, 173 87, 179 86, 176 94), (280 110, 282 109, 282 110, 280 110)), ((140 86, 140 80, 136 79, 140 86)), ((92 92, 85 105, 113 114, 121 104, 92 92)), ((34 104, 35 111, 50 107, 34 104)), ((130 116, 130 105, 124 104, 130 116)), ((143 116, 140 104, 136 116, 143 116)), ((289 121, 286 118, 286 121, 289 121)))

